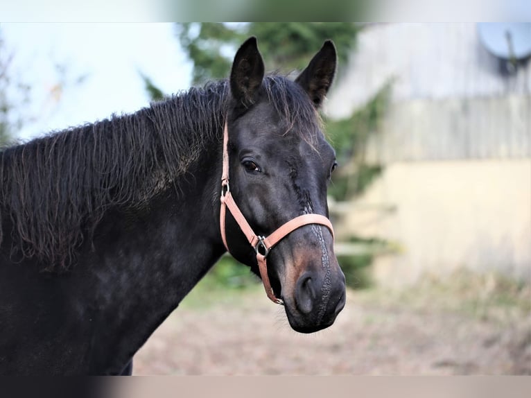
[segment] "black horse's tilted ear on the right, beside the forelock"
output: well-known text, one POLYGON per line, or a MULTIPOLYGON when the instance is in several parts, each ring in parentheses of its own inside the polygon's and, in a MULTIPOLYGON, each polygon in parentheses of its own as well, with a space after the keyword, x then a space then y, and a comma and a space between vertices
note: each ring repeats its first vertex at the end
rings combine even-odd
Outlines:
POLYGON ((337 66, 336 46, 331 40, 324 42, 308 67, 295 79, 306 90, 316 108, 320 107, 324 96, 332 84, 337 66))

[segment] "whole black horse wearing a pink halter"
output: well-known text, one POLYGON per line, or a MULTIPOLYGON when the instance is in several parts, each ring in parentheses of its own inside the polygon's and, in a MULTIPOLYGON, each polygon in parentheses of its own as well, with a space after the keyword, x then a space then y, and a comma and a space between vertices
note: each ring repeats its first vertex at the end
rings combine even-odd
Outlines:
POLYGON ((297 76, 255 37, 229 77, 0 152, 0 374, 130 374, 228 250, 311 333, 345 305, 320 107, 330 40, 297 76))

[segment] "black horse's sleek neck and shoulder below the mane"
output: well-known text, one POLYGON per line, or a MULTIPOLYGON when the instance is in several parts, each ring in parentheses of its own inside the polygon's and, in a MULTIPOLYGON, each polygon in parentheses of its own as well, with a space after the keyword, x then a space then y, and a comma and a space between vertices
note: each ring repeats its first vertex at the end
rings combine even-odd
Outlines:
POLYGON ((195 173, 183 193, 168 190, 148 208, 109 211, 64 275, 40 272, 35 259, 12 264, 4 251, 0 374, 121 372, 224 252, 214 175, 195 173))

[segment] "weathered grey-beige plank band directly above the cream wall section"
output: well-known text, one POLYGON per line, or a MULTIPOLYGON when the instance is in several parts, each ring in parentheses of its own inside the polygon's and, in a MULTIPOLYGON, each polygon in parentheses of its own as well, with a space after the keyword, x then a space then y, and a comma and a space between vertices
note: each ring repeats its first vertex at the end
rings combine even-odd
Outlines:
POLYGON ((392 103, 367 161, 380 164, 531 157, 531 95, 392 103))

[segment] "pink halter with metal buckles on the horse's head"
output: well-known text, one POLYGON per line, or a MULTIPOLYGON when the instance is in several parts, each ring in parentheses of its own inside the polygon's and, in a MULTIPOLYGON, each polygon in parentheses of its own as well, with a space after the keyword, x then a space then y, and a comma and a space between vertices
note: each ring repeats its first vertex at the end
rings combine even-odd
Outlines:
POLYGON ((241 231, 245 234, 247 241, 250 243, 254 251, 256 252, 256 261, 258 262, 258 268, 260 270, 260 276, 262 278, 263 287, 265 288, 265 293, 268 295, 269 299, 276 304, 284 304, 282 300, 275 297, 271 284, 269 282, 268 276, 268 266, 267 266, 267 257, 270 250, 277 244, 279 241, 284 239, 288 234, 297 230, 304 225, 308 224, 320 224, 327 227, 333 238, 333 227, 330 223, 330 220, 321 216, 320 214, 303 214, 292 218, 284 225, 281 225, 275 232, 272 232, 267 237, 259 236, 254 233, 249 223, 243 216, 241 210, 239 209, 232 194, 230 193, 229 187, 229 152, 227 150, 229 142, 229 130, 227 128, 227 121, 225 121, 225 127, 223 128, 223 174, 221 175, 221 209, 220 209, 220 230, 221 238, 223 239, 223 244, 227 249, 227 252, 230 253, 229 246, 227 245, 227 238, 225 237, 225 212, 228 208, 236 223, 240 226, 241 231))

